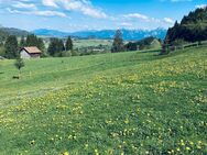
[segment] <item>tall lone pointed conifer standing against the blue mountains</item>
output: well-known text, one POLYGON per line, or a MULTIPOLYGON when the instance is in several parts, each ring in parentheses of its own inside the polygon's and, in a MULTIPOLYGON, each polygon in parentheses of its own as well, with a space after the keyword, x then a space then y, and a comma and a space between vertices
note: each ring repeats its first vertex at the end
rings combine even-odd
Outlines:
POLYGON ((117 52, 123 52, 123 51, 124 51, 124 45, 123 45, 123 40, 122 40, 122 33, 120 30, 118 30, 115 34, 111 52, 117 53, 117 52))

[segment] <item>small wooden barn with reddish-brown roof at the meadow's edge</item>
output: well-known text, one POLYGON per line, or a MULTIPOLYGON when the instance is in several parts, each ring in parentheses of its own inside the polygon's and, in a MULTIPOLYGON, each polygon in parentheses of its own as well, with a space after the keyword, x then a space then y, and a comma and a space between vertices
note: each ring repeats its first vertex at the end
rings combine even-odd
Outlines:
POLYGON ((20 51, 20 57, 24 59, 40 58, 42 52, 36 46, 23 47, 20 51))

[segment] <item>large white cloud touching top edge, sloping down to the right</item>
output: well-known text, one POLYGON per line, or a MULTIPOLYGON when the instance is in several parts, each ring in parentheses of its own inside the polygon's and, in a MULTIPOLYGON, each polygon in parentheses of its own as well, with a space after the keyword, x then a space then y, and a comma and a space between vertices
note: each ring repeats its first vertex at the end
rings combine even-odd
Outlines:
POLYGON ((68 11, 81 12, 97 19, 105 19, 107 14, 100 9, 92 7, 88 0, 42 0, 46 7, 62 8, 68 11))

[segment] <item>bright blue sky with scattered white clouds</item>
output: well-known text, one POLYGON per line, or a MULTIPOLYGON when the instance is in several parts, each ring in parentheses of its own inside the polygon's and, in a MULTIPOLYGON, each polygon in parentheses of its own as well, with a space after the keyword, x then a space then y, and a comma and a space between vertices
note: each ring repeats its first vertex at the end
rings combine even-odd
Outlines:
POLYGON ((0 0, 0 24, 67 32, 172 26, 207 0, 0 0))

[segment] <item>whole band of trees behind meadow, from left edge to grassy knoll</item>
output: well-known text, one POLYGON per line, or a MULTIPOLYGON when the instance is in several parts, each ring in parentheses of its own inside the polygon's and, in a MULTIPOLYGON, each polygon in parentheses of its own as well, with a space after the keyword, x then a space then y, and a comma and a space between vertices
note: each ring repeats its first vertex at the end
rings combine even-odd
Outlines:
POLYGON ((94 55, 101 53, 117 53, 126 51, 143 51, 150 48, 160 48, 161 41, 155 37, 146 37, 137 42, 124 42, 122 38, 122 33, 118 30, 115 34, 112 47, 108 45, 88 46, 74 48, 73 40, 70 36, 67 38, 56 38, 52 37, 48 42, 43 41, 43 38, 37 37, 34 34, 29 34, 28 36, 22 36, 19 38, 15 35, 6 36, 7 38, 0 44, 0 55, 6 58, 17 58, 19 57, 19 52, 25 46, 36 46, 42 51, 42 57, 68 57, 68 56, 83 56, 83 55, 94 55), (46 46, 45 46, 46 45, 46 46))

